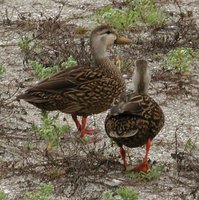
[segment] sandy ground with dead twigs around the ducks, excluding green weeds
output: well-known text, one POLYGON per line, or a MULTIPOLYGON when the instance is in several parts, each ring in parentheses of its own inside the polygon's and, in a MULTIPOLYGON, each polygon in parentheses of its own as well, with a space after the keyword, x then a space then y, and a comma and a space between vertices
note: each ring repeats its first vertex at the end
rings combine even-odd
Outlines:
MULTIPOLYGON (((189 74, 173 74, 161 66, 171 49, 199 48, 199 2, 159 1, 171 16, 169 28, 125 31, 135 43, 110 52, 111 58, 119 54, 125 61, 127 67, 122 71, 129 89, 137 58, 148 60, 153 72, 149 93, 163 108, 166 123, 149 156, 152 169, 163 165, 164 170, 152 180, 130 178, 124 171, 118 148, 104 131, 106 112, 88 119, 89 127, 101 130, 97 137, 102 140, 97 144, 82 143, 70 116, 60 113, 57 123, 68 123, 70 133, 61 138, 59 147, 47 150, 32 129, 33 123, 41 123, 40 110, 15 101, 17 94, 38 81, 31 60, 51 67, 73 55, 78 63, 91 64, 88 36, 97 23, 88 16, 111 2, 123 5, 123 1, 108 0, 71 0, 63 6, 64 2, 0 0, 0 64, 6 67, 6 73, 0 75, 0 191, 8 199, 24 199, 25 192, 51 182, 51 199, 57 200, 101 199, 104 191, 120 186, 132 187, 140 200, 199 199, 199 60, 194 60, 189 74), (180 18, 187 11, 191 16, 180 18), (77 26, 88 31, 77 34, 77 26), (45 46, 42 56, 34 48, 20 50, 18 43, 24 35, 36 36, 34 44, 45 46)), ((144 147, 127 152, 130 165, 145 153, 144 147)))

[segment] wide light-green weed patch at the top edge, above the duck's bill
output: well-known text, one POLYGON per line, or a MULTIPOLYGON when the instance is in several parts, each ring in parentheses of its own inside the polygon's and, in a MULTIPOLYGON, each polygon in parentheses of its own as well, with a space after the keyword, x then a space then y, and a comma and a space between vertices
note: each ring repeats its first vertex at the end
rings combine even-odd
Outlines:
POLYGON ((102 10, 95 11, 91 16, 98 23, 108 23, 118 29, 126 29, 131 25, 144 23, 149 26, 162 26, 165 22, 165 14, 152 0, 131 1, 126 9, 104 6, 102 10))

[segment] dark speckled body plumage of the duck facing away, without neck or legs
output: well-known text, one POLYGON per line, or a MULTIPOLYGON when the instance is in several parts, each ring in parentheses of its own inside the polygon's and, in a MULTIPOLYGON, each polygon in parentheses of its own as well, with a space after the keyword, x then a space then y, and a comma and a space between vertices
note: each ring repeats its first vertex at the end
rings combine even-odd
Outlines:
POLYGON ((107 134, 119 146, 139 147, 153 139, 164 125, 164 114, 159 105, 148 95, 132 95, 128 110, 105 120, 107 134))

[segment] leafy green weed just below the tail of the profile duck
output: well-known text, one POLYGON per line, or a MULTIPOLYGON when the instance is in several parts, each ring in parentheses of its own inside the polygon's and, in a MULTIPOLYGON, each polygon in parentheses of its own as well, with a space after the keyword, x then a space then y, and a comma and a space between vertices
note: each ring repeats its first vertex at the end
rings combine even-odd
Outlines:
POLYGON ((67 124, 62 126, 55 124, 58 117, 59 114, 50 117, 47 112, 43 111, 41 113, 42 125, 38 126, 35 123, 32 125, 36 134, 46 141, 48 149, 58 146, 60 144, 60 136, 70 131, 70 127, 67 124))

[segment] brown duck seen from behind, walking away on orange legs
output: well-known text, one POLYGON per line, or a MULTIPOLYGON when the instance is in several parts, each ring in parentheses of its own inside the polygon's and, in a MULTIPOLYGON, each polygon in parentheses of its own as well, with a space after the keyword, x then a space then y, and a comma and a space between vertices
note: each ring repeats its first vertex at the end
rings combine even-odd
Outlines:
POLYGON ((138 60, 133 76, 134 93, 124 95, 117 106, 111 108, 105 119, 105 130, 120 147, 125 168, 126 152, 123 145, 135 148, 146 144, 146 154, 142 163, 132 171, 147 172, 148 153, 152 139, 164 125, 164 113, 160 106, 148 95, 151 74, 148 63, 138 60))

